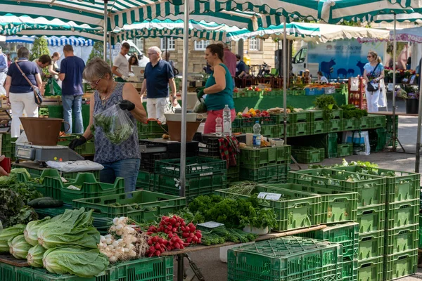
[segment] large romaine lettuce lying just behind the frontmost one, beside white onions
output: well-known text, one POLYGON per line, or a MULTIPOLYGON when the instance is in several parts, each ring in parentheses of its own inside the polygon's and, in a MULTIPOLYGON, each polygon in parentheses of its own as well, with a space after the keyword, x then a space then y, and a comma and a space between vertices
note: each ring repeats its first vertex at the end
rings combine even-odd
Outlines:
POLYGON ((60 247, 86 247, 96 249, 100 233, 92 226, 92 211, 66 210, 38 229, 38 243, 45 249, 60 247))

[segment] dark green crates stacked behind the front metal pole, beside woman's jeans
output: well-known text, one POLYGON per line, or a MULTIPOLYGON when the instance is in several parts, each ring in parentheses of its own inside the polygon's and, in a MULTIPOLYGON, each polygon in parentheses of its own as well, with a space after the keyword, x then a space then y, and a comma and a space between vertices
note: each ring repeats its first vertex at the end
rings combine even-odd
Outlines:
MULTIPOLYGON (((210 195, 227 185, 227 162, 207 157, 186 158, 185 197, 210 195)), ((155 161, 154 191, 170 195, 180 192, 180 159, 155 161)))

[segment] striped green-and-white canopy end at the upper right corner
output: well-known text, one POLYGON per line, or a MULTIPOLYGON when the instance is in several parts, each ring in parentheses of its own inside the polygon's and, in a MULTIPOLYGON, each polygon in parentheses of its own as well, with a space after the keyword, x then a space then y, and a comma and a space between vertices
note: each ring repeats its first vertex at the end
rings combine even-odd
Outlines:
MULTIPOLYGON (((406 1, 406 0, 404 0, 406 1)), ((376 15, 409 14, 416 12, 404 8, 395 0, 328 0, 321 4, 319 18, 328 23, 343 20, 372 22, 376 15), (394 2, 394 4, 392 3, 394 2)))

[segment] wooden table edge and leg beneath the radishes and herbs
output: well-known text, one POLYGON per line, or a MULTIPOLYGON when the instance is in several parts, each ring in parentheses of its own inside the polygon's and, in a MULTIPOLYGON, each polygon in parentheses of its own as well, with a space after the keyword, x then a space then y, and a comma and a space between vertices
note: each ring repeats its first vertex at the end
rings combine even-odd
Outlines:
MULTIPOLYGON (((326 227, 327 227, 326 225, 320 225, 320 226, 313 226, 311 228, 289 230, 289 231, 285 231, 283 233, 269 233, 269 234, 257 237, 255 242, 285 237, 285 236, 289 236, 289 235, 297 235, 299 233, 307 233, 307 232, 314 231, 314 230, 321 230, 321 229, 324 229, 326 227)), ((166 252, 162 253, 162 256, 176 256, 176 258, 177 258, 177 281, 183 281, 184 280, 184 256, 186 254, 191 253, 193 251, 203 251, 203 250, 207 250, 207 249, 230 246, 230 245, 234 245, 234 244, 239 244, 239 243, 226 242, 224 244, 217 244, 217 245, 211 245, 211 246, 188 247, 188 248, 180 249, 180 250, 177 250, 177 251, 176 250, 166 251, 166 252)))

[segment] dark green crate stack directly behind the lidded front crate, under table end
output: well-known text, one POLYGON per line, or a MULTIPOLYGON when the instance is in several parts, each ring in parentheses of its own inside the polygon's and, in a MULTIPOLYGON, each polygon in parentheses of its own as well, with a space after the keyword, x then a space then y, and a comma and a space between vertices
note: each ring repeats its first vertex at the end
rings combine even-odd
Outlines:
POLYGON ((343 246, 343 279, 341 280, 357 280, 359 223, 335 224, 324 229, 300 233, 297 236, 341 244, 343 246))

